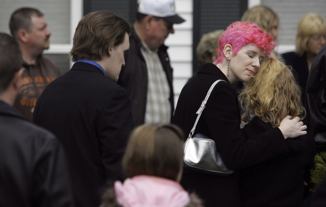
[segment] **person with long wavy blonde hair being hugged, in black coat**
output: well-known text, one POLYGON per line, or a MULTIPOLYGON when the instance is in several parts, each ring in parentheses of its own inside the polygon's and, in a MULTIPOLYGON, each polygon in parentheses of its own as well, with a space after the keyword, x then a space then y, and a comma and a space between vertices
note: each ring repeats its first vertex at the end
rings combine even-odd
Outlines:
MULTIPOLYGON (((301 90, 291 70, 282 62, 267 58, 241 92, 242 129, 249 140, 273 127, 282 118, 304 118, 301 90)), ((286 139, 288 153, 240 170, 241 206, 303 206, 304 182, 310 182, 310 169, 316 153, 312 133, 286 139)), ((308 185, 306 195, 309 193, 308 185)))

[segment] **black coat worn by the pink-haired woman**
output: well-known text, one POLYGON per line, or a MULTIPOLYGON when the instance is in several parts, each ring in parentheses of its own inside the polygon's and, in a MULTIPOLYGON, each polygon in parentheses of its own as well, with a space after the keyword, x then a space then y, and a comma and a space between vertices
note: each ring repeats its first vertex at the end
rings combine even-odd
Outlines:
POLYGON ((278 128, 251 140, 241 136, 237 95, 227 77, 212 63, 202 65, 179 96, 173 122, 183 129, 185 138, 195 123, 196 112, 207 91, 218 79, 226 82, 219 82, 212 91, 195 134, 213 139, 225 164, 235 171, 221 177, 184 168, 181 184, 186 190, 195 191, 204 200, 205 207, 240 206, 238 170, 286 153, 288 147, 278 128))

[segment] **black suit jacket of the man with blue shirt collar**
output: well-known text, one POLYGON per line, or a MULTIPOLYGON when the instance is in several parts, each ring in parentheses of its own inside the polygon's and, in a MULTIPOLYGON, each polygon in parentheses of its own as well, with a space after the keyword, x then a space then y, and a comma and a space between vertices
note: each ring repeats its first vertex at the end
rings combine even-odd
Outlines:
POLYGON ((66 151, 76 206, 98 207, 106 182, 122 179, 133 127, 126 90, 95 65, 77 62, 43 91, 33 116, 66 151))

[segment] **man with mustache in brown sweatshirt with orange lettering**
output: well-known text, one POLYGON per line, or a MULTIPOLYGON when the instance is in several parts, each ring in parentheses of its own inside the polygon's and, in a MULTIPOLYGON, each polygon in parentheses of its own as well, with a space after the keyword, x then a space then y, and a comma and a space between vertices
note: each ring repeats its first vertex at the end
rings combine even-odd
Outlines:
POLYGON ((10 17, 11 35, 19 43, 25 68, 21 89, 14 106, 28 120, 33 120, 36 101, 45 87, 60 76, 58 67, 42 55, 49 48, 51 31, 44 15, 35 8, 23 7, 10 17))

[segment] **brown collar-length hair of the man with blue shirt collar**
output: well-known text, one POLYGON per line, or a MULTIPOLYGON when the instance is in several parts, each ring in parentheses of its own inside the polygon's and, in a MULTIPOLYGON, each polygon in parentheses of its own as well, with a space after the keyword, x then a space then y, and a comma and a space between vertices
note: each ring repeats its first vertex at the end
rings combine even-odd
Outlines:
POLYGON ((116 47, 130 33, 126 20, 109 11, 95 11, 84 16, 78 23, 70 51, 72 61, 102 60, 110 47, 116 47))

